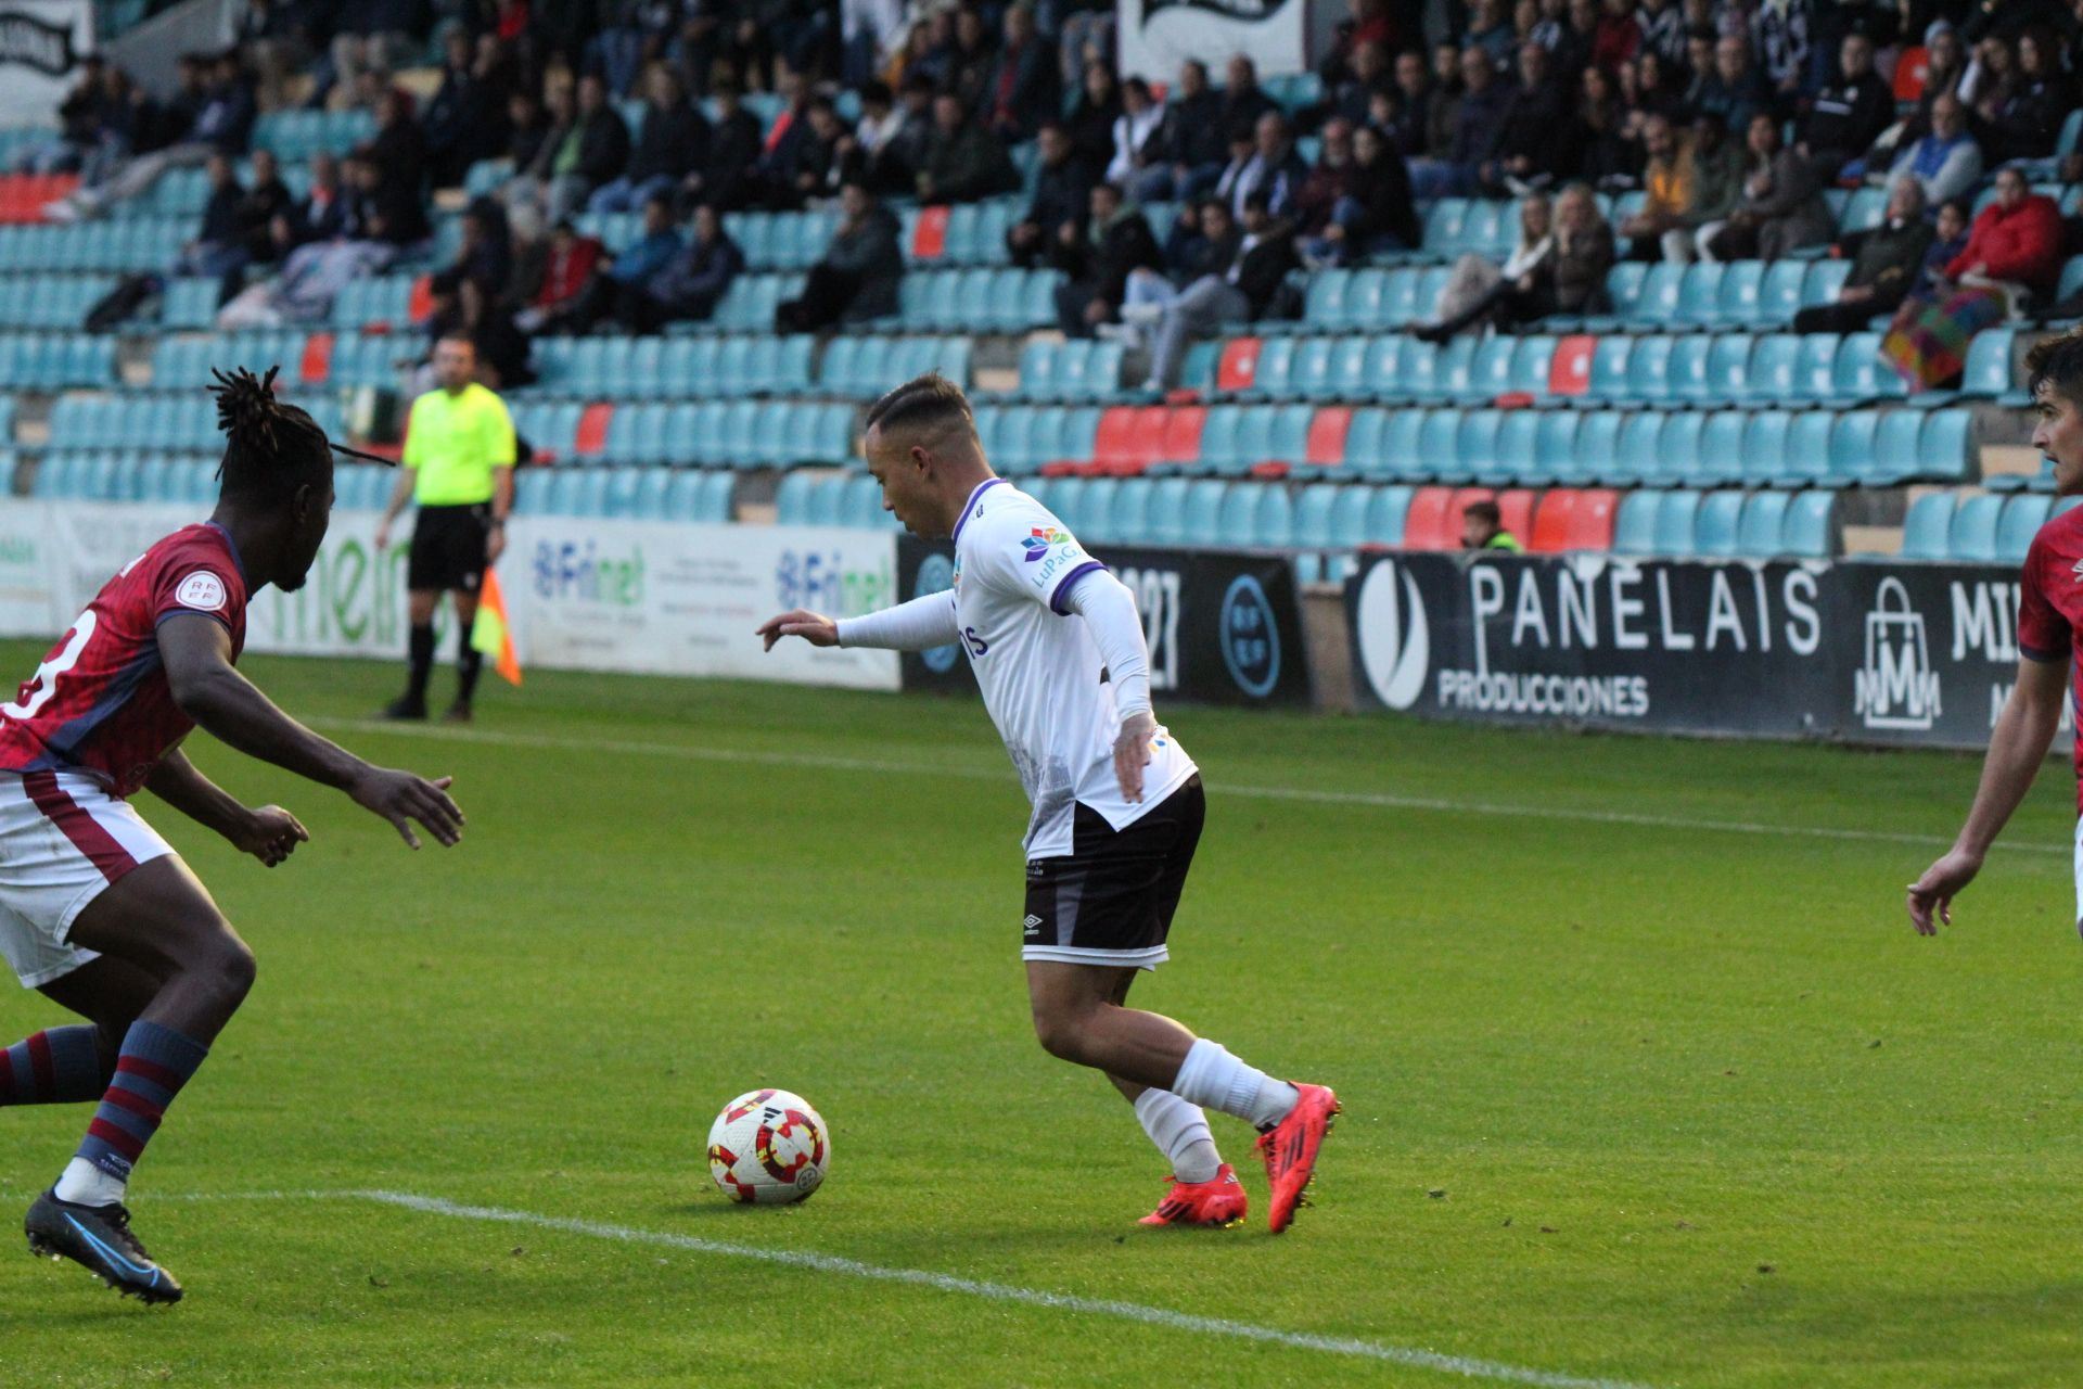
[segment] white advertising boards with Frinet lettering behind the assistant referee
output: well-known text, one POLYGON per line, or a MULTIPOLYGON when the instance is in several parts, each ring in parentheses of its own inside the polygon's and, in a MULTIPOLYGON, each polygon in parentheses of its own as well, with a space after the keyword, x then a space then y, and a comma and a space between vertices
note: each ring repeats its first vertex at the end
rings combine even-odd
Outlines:
MULTIPOLYGON (((0 635, 56 637, 108 575, 196 521, 192 506, 25 502, 0 512, 0 635)), ((406 546, 375 546, 375 512, 335 512, 296 594, 246 610, 246 650, 404 658, 406 546)), ((406 535, 400 535, 400 541, 406 535)), ((500 560, 523 666, 896 689, 896 652, 760 652, 785 608, 854 616, 896 602, 887 531, 517 516, 500 560)), ((452 656, 446 612, 442 658, 452 656)))

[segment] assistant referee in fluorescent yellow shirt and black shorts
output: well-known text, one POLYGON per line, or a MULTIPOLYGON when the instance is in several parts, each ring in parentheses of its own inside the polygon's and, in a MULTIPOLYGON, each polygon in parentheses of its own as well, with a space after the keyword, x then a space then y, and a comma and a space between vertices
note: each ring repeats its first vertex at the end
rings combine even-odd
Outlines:
POLYGON ((446 716, 469 723, 483 666, 483 656, 471 648, 471 623, 485 566, 506 550, 506 514, 515 504, 515 423, 506 402, 477 383, 477 348, 469 337, 444 337, 433 346, 433 379, 440 387, 412 402, 404 471, 377 527, 377 550, 385 550, 398 512, 408 502, 419 504, 406 562, 410 675, 383 716, 427 716, 433 610, 442 594, 450 594, 456 608, 456 702, 446 716))

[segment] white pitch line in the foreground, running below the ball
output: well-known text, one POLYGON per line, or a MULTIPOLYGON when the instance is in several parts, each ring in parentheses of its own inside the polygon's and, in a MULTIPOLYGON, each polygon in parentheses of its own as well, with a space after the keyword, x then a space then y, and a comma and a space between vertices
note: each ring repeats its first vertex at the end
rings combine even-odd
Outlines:
POLYGON ((714 1254, 721 1258, 744 1258, 760 1264, 781 1264, 783 1268, 808 1268, 810 1272, 835 1272, 848 1279, 871 1279, 875 1283, 906 1283, 929 1287, 939 1293, 962 1293, 967 1297, 987 1297, 992 1302, 1019 1302, 1033 1308, 1058 1312, 1083 1312, 1087 1316, 1114 1316, 1171 1331, 1189 1331, 1237 1341, 1260 1341, 1285 1345, 1289 1349, 1314 1349, 1331 1356, 1356 1356, 1360 1360, 1383 1360, 1419 1370, 1460 1374, 1462 1379, 1487 1379, 1504 1385, 1535 1385, 1535 1389, 1650 1389, 1621 1379, 1587 1379, 1581 1374, 1556 1374, 1554 1370, 1529 1370, 1500 1360, 1477 1360, 1473 1356, 1446 1356, 1441 1352, 1412 1345, 1383 1345, 1381 1341, 1360 1341, 1356 1337, 1327 1337, 1308 1331, 1279 1331, 1277 1327, 1256 1327, 1233 1322, 1221 1316, 1194 1316, 1171 1308, 1152 1308, 1139 1302, 1114 1302, 1110 1297, 1079 1297, 1077 1293, 1048 1293, 1035 1287, 1014 1287, 1012 1283, 985 1283, 983 1279, 962 1279, 952 1272, 931 1272, 927 1268, 887 1268, 864 1264, 837 1254, 817 1254, 812 1249, 764 1249, 760 1245, 727 1243, 723 1239, 700 1239, 696 1235, 675 1235, 671 1231, 644 1231, 631 1224, 606 1224, 602 1220, 573 1220, 567 1216, 544 1216, 533 1210, 506 1210, 500 1206, 465 1206, 437 1195, 412 1195, 410 1191, 194 1191, 177 1195, 154 1195, 158 1202, 375 1202, 398 1206, 429 1216, 452 1220, 487 1220, 494 1224, 525 1224, 539 1231, 560 1231, 564 1235, 592 1235, 631 1245, 656 1245, 681 1249, 685 1254, 714 1254))

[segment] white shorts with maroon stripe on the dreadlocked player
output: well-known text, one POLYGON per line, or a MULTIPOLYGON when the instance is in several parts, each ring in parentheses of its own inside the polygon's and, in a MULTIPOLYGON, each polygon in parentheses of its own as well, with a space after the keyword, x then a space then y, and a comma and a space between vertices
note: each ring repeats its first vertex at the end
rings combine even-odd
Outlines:
POLYGON ((77 773, 0 773, 0 956, 25 989, 94 960, 67 943, 87 902, 173 854, 129 802, 77 773))

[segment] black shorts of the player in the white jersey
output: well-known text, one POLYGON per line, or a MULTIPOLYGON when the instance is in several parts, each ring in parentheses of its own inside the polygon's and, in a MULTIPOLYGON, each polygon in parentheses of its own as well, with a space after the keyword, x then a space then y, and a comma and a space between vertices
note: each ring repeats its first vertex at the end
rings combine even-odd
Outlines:
POLYGON ((1027 864, 1027 960, 1156 968, 1208 802, 1200 775, 1144 818, 1114 829, 1077 806, 1071 854, 1027 864))

